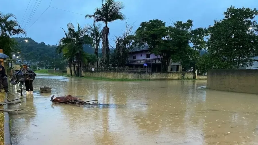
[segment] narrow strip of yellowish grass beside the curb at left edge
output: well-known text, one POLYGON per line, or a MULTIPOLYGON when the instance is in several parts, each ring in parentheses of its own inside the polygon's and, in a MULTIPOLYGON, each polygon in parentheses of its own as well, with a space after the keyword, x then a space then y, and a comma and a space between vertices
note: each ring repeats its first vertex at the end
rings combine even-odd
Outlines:
MULTIPOLYGON (((5 101, 5 93, 4 90, 1 90, 0 93, 0 102, 5 101)), ((3 105, 0 105, 0 109, 3 109, 3 105)), ((3 112, 0 112, 0 145, 4 144, 4 114, 3 112)))

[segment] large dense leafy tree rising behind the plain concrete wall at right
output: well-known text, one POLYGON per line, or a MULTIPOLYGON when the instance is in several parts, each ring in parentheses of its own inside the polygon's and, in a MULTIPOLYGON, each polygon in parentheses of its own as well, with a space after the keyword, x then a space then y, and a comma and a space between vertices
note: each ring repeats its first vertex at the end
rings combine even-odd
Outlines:
POLYGON ((212 61, 208 69, 239 69, 240 64, 252 65, 253 60, 249 58, 257 55, 258 48, 255 20, 258 11, 230 6, 223 14, 224 19, 215 20, 214 26, 208 28, 209 55, 206 56, 210 59, 204 59, 212 61))

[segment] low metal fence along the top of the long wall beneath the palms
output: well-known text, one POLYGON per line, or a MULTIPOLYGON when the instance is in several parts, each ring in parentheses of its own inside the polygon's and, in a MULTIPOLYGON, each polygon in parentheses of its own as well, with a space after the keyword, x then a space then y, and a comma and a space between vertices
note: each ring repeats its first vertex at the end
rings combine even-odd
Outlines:
MULTIPOLYGON (((83 71, 93 71, 92 68, 84 68, 83 71)), ((128 68, 128 67, 108 67, 108 68, 94 68, 94 71, 145 71, 146 68, 128 68)), ((150 68, 148 68, 150 71, 150 68)))

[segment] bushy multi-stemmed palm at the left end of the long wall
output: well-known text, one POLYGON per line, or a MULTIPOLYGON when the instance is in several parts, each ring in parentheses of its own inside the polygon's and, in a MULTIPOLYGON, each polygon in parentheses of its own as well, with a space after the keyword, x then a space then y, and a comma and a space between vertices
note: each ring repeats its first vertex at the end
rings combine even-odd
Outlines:
MULTIPOLYGON (((56 49, 58 53, 63 53, 64 56, 72 62, 77 62, 77 73, 75 71, 75 63, 73 63, 76 76, 81 75, 80 67, 85 63, 83 45, 92 44, 92 39, 87 35, 89 26, 85 25, 83 28, 77 23, 77 31, 72 23, 67 24, 68 32, 64 31, 65 37, 61 38, 56 49)), ((69 65, 71 66, 71 65, 69 65)), ((70 68, 71 69, 71 68, 70 68)))

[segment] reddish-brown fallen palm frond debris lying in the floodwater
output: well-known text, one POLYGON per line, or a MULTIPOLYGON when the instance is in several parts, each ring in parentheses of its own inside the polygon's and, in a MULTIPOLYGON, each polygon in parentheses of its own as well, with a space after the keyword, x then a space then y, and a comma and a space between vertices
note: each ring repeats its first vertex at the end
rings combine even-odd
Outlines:
POLYGON ((60 103, 60 104, 75 104, 75 105, 96 105, 99 104, 98 102, 92 102, 92 101, 98 101, 98 100, 91 100, 91 101, 82 101, 80 98, 73 97, 72 95, 67 95, 67 96, 61 96, 61 97, 56 97, 54 98, 55 95, 53 95, 50 99, 51 102, 53 103, 60 103), (89 103, 91 102, 91 103, 89 103))

